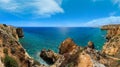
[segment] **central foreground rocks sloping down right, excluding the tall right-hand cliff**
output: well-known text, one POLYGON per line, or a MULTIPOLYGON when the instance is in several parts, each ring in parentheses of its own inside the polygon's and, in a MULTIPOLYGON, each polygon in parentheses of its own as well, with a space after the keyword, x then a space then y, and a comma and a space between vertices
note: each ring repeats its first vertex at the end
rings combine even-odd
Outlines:
POLYGON ((91 41, 88 42, 87 47, 82 48, 77 46, 71 38, 68 38, 62 42, 59 49, 62 52, 60 54, 50 50, 41 52, 40 55, 44 56, 42 58, 45 61, 55 59, 54 54, 56 54, 57 59, 50 67, 115 67, 113 63, 117 63, 116 60, 95 50, 94 43, 91 41), (75 48, 73 48, 74 46, 75 48))

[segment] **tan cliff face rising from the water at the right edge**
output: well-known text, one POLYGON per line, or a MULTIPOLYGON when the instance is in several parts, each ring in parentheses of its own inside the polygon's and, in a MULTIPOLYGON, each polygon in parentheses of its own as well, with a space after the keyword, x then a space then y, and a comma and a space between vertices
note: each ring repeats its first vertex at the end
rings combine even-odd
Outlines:
POLYGON ((120 58, 120 25, 106 25, 107 42, 103 46, 102 52, 120 58))

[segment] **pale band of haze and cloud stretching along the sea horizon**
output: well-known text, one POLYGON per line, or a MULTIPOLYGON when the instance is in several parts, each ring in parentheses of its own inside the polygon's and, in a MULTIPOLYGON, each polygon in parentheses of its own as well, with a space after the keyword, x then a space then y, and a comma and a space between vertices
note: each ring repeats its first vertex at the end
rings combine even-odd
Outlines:
POLYGON ((109 16, 105 18, 98 18, 93 19, 88 22, 71 22, 66 21, 64 22, 64 25, 60 22, 25 22, 21 21, 19 22, 19 25, 16 23, 15 26, 23 26, 23 27, 101 27, 103 25, 109 25, 109 24, 120 24, 120 16, 109 16), (22 24, 24 23, 24 24, 22 24))

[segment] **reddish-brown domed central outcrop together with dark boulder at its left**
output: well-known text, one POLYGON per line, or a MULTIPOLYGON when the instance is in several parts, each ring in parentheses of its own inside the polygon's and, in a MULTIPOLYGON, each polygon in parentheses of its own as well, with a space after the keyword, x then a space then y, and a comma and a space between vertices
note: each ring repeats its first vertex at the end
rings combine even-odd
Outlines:
POLYGON ((43 50, 40 56, 45 61, 52 60, 53 64, 50 67, 65 67, 69 66, 72 62, 76 62, 79 50, 80 47, 71 38, 68 38, 61 43, 59 54, 51 50, 43 50))

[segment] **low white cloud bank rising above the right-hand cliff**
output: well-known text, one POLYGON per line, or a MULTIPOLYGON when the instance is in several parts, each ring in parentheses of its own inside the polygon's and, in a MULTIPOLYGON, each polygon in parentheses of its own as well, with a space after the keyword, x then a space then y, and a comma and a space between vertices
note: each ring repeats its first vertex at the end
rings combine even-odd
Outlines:
POLYGON ((95 19, 83 23, 81 26, 100 27, 102 25, 108 25, 108 24, 120 24, 120 16, 110 16, 106 18, 95 19))

